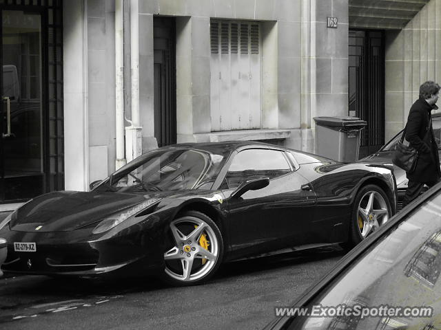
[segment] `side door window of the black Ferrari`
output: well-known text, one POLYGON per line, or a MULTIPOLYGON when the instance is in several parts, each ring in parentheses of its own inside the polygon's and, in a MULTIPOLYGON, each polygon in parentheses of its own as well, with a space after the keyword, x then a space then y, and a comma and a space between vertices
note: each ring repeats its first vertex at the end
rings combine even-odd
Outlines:
POLYGON ((291 166, 282 151, 247 149, 234 157, 221 188, 236 188, 250 177, 274 179, 290 172, 291 166))

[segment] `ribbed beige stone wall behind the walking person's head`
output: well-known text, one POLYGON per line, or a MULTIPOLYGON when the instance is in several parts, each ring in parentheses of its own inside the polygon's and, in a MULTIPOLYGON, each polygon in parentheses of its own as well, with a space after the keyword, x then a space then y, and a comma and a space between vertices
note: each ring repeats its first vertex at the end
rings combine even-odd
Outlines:
POLYGON ((431 0, 403 30, 386 33, 386 141, 407 122, 426 80, 441 83, 441 0, 431 0))

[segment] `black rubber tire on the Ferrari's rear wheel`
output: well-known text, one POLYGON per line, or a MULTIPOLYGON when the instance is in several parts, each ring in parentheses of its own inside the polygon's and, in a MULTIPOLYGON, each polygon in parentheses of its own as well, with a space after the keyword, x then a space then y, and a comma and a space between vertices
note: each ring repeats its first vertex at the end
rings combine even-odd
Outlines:
MULTIPOLYGON (((388 221, 391 217, 392 217, 392 208, 391 208, 391 203, 389 201, 389 198, 387 197, 386 193, 384 192, 384 190, 382 190, 382 188, 380 188, 379 186, 376 186, 374 184, 368 184, 367 186, 363 186, 362 188, 360 188, 360 190, 358 190, 357 195, 355 197, 355 199, 353 200, 353 207, 352 207, 352 212, 351 212, 351 220, 349 223, 349 240, 346 243, 342 243, 340 245, 342 245, 343 248, 349 249, 349 248, 353 248, 355 245, 357 245, 358 243, 360 243, 363 239, 365 239, 367 236, 369 236, 369 234, 371 234, 373 231, 377 230, 378 228, 376 228, 375 230, 372 229, 371 232, 369 232, 366 236, 362 235, 363 232, 363 228, 365 226, 365 223, 363 223, 363 225, 360 225, 360 214, 358 212, 358 208, 359 206, 363 206, 363 203, 365 203, 366 198, 369 199, 369 197, 367 197, 367 195, 369 195, 370 192, 373 192, 373 198, 374 198, 374 205, 373 208, 380 206, 382 203, 384 203, 383 208, 387 208, 387 214, 384 214, 382 216, 381 219, 377 219, 377 223, 378 225, 383 225, 386 221, 388 221), (376 200, 378 199, 378 200, 376 200), (382 199, 382 201, 381 201, 382 199), (363 200, 363 201, 362 201, 363 200), (361 203, 361 204, 360 204, 361 203), (386 217, 387 215, 387 217, 386 217), (380 220, 381 223, 379 222, 380 220)), ((376 216, 376 214, 373 214, 374 217, 376 216)), ((369 216, 368 216, 369 219, 369 216)))

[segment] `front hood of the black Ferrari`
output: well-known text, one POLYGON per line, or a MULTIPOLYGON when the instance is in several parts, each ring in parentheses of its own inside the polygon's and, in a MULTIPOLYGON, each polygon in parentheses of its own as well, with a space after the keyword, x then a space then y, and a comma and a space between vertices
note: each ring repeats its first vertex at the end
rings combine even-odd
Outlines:
POLYGON ((122 192, 50 192, 17 210, 10 228, 17 231, 69 231, 90 225, 110 214, 150 199, 150 195, 122 192))

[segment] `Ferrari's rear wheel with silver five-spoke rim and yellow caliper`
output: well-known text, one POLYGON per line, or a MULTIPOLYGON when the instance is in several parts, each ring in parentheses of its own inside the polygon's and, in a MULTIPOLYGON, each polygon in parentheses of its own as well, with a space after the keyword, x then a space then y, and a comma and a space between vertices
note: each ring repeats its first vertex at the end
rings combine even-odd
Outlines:
POLYGON ((392 208, 384 191, 373 184, 362 187, 354 200, 351 214, 351 245, 360 243, 378 230, 392 216, 392 208))

